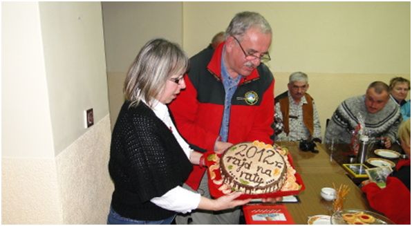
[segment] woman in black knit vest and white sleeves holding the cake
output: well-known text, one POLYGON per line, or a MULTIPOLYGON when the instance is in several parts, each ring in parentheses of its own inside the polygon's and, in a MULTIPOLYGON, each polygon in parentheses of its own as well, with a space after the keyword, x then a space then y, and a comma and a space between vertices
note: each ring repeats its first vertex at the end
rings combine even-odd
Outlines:
POLYGON ((166 106, 185 88, 188 62, 177 44, 153 39, 129 69, 111 140, 115 190, 109 224, 170 224, 178 212, 217 211, 250 201, 234 200, 240 193, 212 200, 181 187, 191 164, 204 164, 202 154, 178 134, 166 106))

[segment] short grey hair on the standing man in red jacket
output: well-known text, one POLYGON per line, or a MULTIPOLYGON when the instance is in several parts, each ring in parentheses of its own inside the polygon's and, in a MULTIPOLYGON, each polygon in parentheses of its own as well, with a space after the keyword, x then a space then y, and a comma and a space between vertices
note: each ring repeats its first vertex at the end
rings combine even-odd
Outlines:
POLYGON ((238 39, 242 39, 245 32, 252 27, 260 28, 261 32, 264 34, 272 34, 272 28, 265 17, 257 12, 246 11, 239 12, 233 17, 226 29, 225 35, 226 37, 233 35, 238 37, 238 39))

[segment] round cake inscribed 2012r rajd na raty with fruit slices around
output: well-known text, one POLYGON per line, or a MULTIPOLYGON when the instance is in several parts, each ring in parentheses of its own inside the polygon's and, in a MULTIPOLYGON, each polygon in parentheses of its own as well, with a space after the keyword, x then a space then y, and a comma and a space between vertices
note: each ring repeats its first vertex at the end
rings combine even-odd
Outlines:
POLYGON ((298 190, 294 173, 288 161, 285 148, 273 147, 263 142, 244 142, 227 149, 219 159, 216 155, 209 159, 216 164, 209 167, 214 177, 215 169, 220 169, 221 179, 213 180, 219 189, 227 194, 241 191, 245 194, 265 194, 275 191, 298 190))

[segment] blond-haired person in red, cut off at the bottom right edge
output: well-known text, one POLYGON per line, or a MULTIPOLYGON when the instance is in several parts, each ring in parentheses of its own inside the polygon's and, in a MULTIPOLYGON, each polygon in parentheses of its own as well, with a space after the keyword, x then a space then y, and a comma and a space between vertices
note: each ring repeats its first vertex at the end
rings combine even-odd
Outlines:
POLYGON ((381 189, 375 182, 362 182, 362 191, 369 205, 396 224, 411 225, 411 119, 402 122, 398 136, 406 160, 399 160, 395 171, 386 178, 386 187, 381 189))

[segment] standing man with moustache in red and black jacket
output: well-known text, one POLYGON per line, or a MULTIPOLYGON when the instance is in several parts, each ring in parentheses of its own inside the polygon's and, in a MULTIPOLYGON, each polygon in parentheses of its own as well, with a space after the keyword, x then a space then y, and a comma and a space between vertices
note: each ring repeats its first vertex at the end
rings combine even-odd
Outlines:
MULTIPOLYGON (((270 60, 272 28, 257 12, 239 12, 225 42, 190 59, 186 89, 169 105, 179 133, 196 151, 221 153, 232 144, 272 144, 274 77, 261 62, 270 60)), ((209 196, 206 168, 194 165, 185 185, 209 196)), ((178 224, 237 225, 240 209, 192 211, 178 224)))

